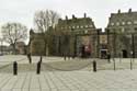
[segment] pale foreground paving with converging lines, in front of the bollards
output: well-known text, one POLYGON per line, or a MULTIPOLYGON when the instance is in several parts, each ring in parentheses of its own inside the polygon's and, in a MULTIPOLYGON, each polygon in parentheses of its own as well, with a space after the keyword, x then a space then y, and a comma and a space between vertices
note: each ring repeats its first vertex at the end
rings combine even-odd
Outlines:
POLYGON ((1 91, 136 91, 137 70, 0 73, 1 91))

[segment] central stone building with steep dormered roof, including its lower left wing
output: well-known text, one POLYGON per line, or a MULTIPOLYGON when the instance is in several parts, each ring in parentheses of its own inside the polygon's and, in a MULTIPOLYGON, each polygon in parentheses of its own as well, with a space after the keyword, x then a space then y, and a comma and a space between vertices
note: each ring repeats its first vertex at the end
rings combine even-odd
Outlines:
POLYGON ((44 55, 48 52, 48 55, 54 56, 99 57, 100 32, 101 29, 96 29, 92 19, 85 13, 83 18, 66 16, 65 20, 59 19, 56 27, 47 31, 48 34, 45 33, 48 37, 48 50, 45 48, 45 34, 31 31, 30 53, 44 55))

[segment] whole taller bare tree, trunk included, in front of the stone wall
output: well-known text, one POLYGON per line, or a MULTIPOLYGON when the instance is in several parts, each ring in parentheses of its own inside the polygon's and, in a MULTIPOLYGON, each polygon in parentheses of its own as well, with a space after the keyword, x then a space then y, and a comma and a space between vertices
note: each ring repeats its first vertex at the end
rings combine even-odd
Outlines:
POLYGON ((50 26, 54 29, 58 23, 59 14, 53 10, 37 11, 34 15, 36 32, 45 34, 45 55, 48 55, 50 26))

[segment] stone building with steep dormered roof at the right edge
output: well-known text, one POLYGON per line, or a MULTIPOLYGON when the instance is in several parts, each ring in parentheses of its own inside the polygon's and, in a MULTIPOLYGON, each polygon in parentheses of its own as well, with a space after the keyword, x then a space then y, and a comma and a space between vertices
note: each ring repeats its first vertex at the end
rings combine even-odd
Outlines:
POLYGON ((112 13, 105 31, 113 57, 137 57, 137 12, 112 13))

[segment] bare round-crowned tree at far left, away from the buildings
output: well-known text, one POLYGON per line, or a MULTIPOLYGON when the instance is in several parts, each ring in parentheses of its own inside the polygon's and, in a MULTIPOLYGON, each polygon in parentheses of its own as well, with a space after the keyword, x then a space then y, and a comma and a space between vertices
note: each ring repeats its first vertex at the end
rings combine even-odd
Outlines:
POLYGON ((12 45, 15 54, 15 45, 27 38, 27 29, 21 23, 7 23, 1 27, 3 41, 12 45))

